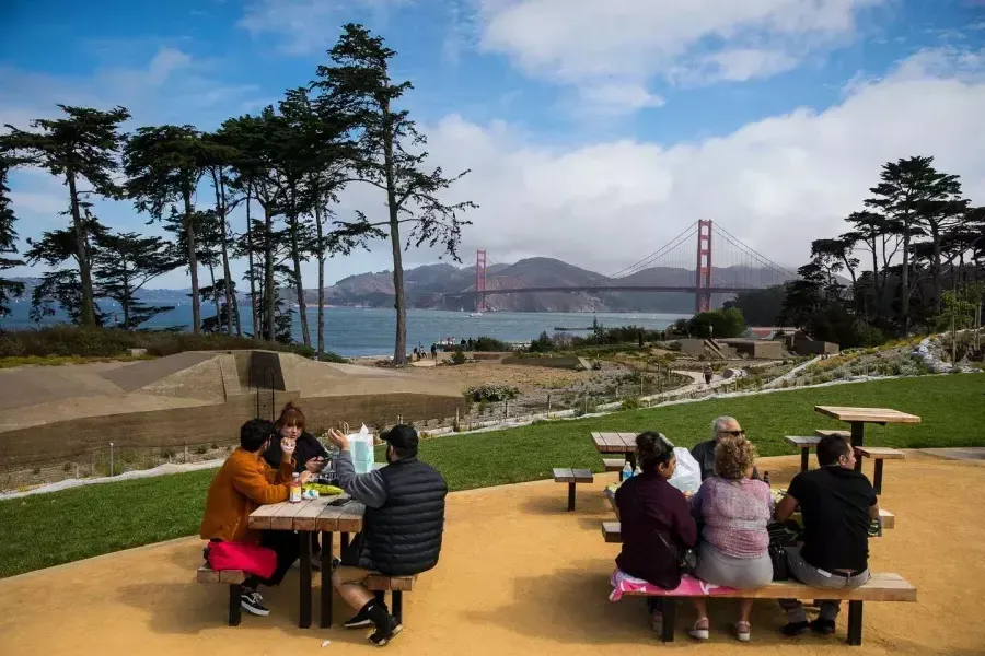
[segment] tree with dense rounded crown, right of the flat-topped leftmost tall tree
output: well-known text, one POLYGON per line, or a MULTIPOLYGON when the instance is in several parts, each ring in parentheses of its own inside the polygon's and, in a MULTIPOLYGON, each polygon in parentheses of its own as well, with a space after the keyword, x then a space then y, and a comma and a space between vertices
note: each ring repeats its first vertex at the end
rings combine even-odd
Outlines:
MULTIPOLYGON (((198 257, 193 198, 205 172, 207 156, 201 134, 193 126, 160 126, 137 130, 124 148, 127 194, 140 212, 161 221, 174 203, 187 246, 186 263, 192 274, 192 331, 201 329, 198 294, 198 257)), ((174 210, 172 210, 174 212, 174 210)))

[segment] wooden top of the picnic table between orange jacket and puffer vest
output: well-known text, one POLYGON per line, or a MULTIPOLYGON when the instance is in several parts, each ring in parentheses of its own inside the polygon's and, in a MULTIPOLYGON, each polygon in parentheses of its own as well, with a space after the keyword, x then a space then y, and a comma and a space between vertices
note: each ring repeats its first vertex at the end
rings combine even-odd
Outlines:
POLYGON ((248 526, 265 530, 359 532, 364 513, 364 505, 345 494, 321 496, 300 503, 283 501, 260 506, 251 513, 248 526), (345 505, 328 505, 336 499, 348 501, 345 505))

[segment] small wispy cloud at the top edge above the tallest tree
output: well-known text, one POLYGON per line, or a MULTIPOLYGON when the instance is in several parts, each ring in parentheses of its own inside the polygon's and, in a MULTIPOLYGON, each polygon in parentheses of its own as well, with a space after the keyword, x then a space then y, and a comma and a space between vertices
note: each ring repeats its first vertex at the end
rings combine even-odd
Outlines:
POLYGON ((251 36, 274 34, 281 50, 308 55, 328 50, 338 39, 343 16, 354 9, 385 21, 392 8, 414 0, 251 0, 237 25, 251 36))

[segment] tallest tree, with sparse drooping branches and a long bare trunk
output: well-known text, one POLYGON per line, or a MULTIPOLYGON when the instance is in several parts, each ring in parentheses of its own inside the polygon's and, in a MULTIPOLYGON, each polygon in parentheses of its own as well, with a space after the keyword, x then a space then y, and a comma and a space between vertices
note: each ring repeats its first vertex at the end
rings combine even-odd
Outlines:
POLYGON ((461 261, 457 246, 462 226, 470 222, 460 214, 477 206, 468 201, 445 204, 440 200, 439 196, 468 172, 447 178, 441 168, 425 171, 425 136, 406 109, 395 107, 413 86, 410 82, 391 80, 390 62, 396 52, 385 46, 383 38, 350 23, 328 55, 332 66, 318 67, 318 80, 312 86, 322 92, 322 102, 349 117, 356 148, 355 177, 383 191, 387 210, 382 221, 359 213, 356 221, 336 222, 337 232, 360 238, 390 238, 396 292, 393 362, 403 365, 407 362, 407 301, 402 250, 410 244, 440 244, 444 254, 461 261), (406 244, 402 227, 406 229, 406 244))

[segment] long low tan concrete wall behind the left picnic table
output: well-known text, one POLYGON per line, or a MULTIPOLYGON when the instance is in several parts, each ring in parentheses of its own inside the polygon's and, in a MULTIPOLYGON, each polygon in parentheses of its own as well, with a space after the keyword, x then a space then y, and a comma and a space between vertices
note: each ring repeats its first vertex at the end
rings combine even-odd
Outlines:
MULTIPOLYGON (((389 394, 358 397, 299 398, 298 393, 275 391, 262 398, 262 419, 270 419, 289 400, 299 403, 309 427, 318 430, 348 422, 358 427, 366 422, 396 422, 448 418, 464 409, 462 398, 416 394, 389 394)), ((239 440, 243 422, 256 417, 255 395, 242 395, 222 405, 199 406, 88 417, 44 426, 9 431, 0 435, 0 465, 16 466, 46 460, 71 460, 91 449, 116 447, 181 448, 184 444, 228 444, 239 440)), ((90 458, 89 455, 79 459, 90 458)))

